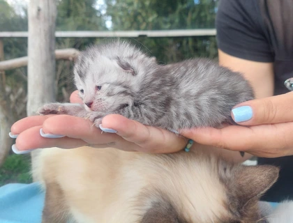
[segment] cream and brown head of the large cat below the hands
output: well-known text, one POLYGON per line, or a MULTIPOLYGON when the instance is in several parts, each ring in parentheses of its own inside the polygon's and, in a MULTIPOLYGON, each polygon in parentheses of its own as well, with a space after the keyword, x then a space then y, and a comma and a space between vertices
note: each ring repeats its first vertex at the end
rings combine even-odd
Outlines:
POLYGON ((160 168, 155 187, 138 198, 145 208, 140 223, 266 222, 258 201, 276 182, 277 167, 199 162, 176 163, 176 169, 166 162, 160 168))

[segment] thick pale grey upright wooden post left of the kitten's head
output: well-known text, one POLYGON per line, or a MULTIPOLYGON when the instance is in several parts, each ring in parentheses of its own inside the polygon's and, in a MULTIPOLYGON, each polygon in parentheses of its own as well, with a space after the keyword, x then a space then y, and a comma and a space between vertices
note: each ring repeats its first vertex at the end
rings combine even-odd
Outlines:
MULTIPOLYGON (((41 105, 55 101, 55 26, 57 0, 29 1, 28 92, 27 115, 41 105)), ((39 151, 31 153, 32 169, 36 168, 39 151)), ((38 180, 33 176, 33 180, 38 180)))

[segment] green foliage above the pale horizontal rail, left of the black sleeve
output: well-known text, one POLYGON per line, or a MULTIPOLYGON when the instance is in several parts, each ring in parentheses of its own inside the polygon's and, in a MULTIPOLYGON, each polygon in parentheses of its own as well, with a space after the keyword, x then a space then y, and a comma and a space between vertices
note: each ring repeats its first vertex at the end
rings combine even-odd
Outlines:
POLYGON ((106 0, 114 30, 207 29, 214 27, 217 1, 106 0))

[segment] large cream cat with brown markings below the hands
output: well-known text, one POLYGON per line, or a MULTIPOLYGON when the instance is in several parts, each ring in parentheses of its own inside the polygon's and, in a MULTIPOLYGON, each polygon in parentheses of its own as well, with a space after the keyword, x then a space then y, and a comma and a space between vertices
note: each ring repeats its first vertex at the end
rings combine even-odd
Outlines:
POLYGON ((43 223, 264 223, 257 202, 278 178, 277 167, 232 164, 201 145, 156 155, 47 148, 37 164, 43 223))

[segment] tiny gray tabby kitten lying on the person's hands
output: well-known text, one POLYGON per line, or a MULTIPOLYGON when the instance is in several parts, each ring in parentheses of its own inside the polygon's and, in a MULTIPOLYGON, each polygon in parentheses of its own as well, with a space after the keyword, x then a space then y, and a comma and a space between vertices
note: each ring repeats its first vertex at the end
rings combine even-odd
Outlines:
POLYGON ((121 40, 82 52, 74 74, 84 105, 48 104, 40 114, 80 116, 96 126, 107 114, 121 114, 145 125, 179 130, 231 122, 232 107, 254 98, 241 74, 209 59, 163 66, 121 40))

